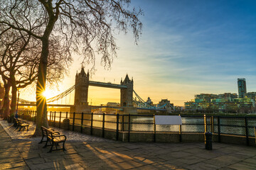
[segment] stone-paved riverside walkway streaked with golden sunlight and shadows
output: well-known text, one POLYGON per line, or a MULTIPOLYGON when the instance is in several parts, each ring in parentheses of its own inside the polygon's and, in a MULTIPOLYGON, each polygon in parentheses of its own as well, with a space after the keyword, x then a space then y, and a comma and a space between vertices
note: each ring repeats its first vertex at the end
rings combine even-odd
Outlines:
POLYGON ((43 149, 39 138, 11 139, 4 128, 16 129, 0 123, 0 169, 256 169, 255 147, 213 143, 208 151, 202 142, 128 143, 88 136, 68 139, 65 152, 47 153, 50 148, 43 149))

